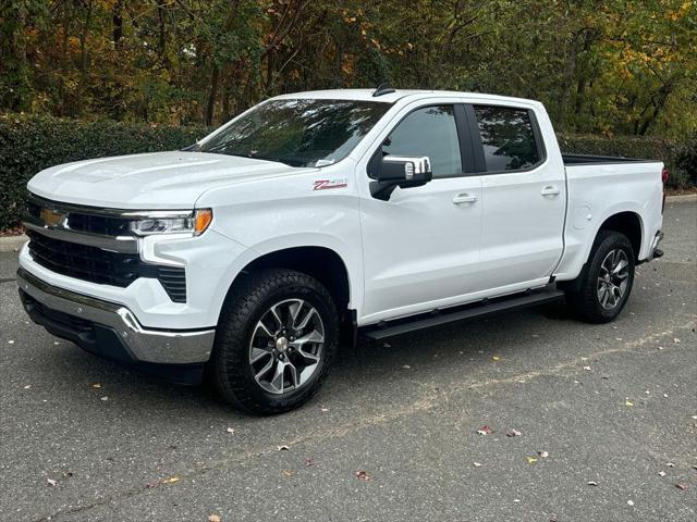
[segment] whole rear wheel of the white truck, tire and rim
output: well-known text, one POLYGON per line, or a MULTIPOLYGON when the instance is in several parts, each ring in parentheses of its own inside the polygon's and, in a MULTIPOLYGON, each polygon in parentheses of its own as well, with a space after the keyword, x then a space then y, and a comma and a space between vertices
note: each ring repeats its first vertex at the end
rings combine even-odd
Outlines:
POLYGON ((576 314, 589 323, 608 323, 627 302, 634 284, 635 257, 624 234, 601 231, 579 277, 577 291, 566 300, 576 314))

